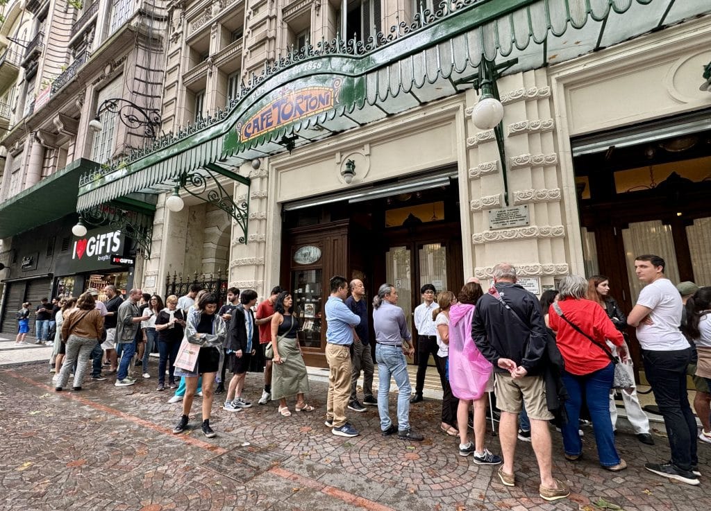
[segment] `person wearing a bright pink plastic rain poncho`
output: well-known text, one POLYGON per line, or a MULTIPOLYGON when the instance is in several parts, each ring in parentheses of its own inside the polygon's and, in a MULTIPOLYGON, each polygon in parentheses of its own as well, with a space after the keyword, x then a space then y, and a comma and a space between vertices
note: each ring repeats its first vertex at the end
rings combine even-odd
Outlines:
MULTIPOLYGON (((493 372, 484 392, 474 399, 474 389, 465 389, 466 385, 458 382, 460 371, 466 373, 469 364, 467 353, 479 351, 471 339, 471 321, 474 318, 476 302, 483 296, 481 285, 474 282, 465 284, 459 291, 457 303, 449 307, 449 383, 452 392, 459 398, 456 410, 456 424, 459 426, 459 456, 474 454, 474 463, 478 465, 498 465, 501 456, 491 454, 485 449, 486 436, 486 405, 488 396, 486 392, 493 391, 493 372), (474 405, 474 443, 469 441, 466 424, 469 418, 469 408, 474 405)), ((471 367, 471 364, 470 364, 471 367)))

